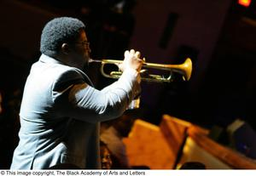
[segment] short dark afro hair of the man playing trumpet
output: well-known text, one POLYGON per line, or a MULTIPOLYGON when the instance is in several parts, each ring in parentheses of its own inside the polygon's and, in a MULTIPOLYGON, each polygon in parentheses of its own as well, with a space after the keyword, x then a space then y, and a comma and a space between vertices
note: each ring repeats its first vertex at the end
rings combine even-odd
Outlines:
POLYGON ((40 51, 54 57, 62 43, 71 43, 79 37, 79 30, 84 29, 84 23, 71 17, 60 17, 50 20, 42 31, 40 51))

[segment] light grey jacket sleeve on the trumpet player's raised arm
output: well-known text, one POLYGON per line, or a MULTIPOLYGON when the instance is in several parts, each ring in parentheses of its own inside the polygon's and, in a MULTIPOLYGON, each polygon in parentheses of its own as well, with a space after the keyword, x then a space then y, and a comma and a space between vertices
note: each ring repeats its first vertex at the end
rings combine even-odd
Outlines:
POLYGON ((125 70, 119 80, 102 90, 88 85, 76 71, 61 74, 53 84, 53 101, 61 116, 101 122, 120 116, 140 90, 140 76, 125 70))

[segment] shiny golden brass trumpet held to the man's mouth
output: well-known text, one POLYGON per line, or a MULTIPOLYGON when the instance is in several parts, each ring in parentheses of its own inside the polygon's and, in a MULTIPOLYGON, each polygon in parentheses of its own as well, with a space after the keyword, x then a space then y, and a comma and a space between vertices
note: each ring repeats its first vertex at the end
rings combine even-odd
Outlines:
MULTIPOLYGON (((110 78, 119 78, 122 75, 122 71, 111 71, 109 74, 107 74, 104 71, 104 66, 107 64, 112 65, 119 65, 123 62, 123 60, 89 60, 89 63, 91 62, 100 62, 102 64, 101 66, 101 73, 103 77, 110 77, 110 78)), ((142 81, 146 82, 172 82, 173 79, 173 72, 177 72, 183 76, 184 81, 189 81, 191 77, 192 72, 192 61, 190 58, 187 58, 183 64, 180 65, 165 65, 165 64, 154 64, 154 63, 143 63, 143 68, 140 72, 142 81), (169 71, 168 76, 164 75, 156 75, 156 74, 144 74, 147 70, 144 68, 151 68, 156 70, 162 70, 162 71, 169 71)))

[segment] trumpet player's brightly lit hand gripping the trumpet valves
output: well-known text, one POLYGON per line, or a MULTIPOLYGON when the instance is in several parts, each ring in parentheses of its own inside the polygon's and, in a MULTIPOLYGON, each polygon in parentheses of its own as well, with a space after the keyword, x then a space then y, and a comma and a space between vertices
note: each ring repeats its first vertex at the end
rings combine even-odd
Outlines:
POLYGON ((140 56, 140 52, 135 52, 134 49, 131 49, 130 51, 126 50, 125 60, 122 64, 119 64, 119 70, 125 71, 125 69, 130 68, 140 72, 144 62, 144 60, 140 59, 140 56))

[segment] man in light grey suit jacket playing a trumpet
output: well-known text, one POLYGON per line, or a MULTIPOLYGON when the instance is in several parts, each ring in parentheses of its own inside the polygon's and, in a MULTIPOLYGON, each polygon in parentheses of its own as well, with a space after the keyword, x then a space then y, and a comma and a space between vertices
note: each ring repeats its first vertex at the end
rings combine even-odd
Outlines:
POLYGON ((82 21, 50 20, 42 31, 41 57, 32 65, 20 107, 20 143, 11 169, 43 169, 60 164, 101 168, 99 122, 123 114, 137 96, 143 60, 125 51, 119 80, 93 88, 81 69, 90 59, 82 21))

